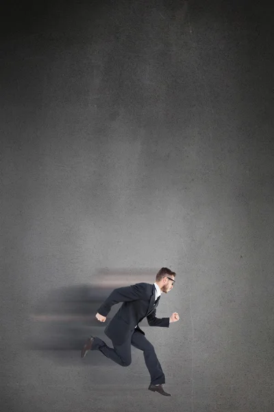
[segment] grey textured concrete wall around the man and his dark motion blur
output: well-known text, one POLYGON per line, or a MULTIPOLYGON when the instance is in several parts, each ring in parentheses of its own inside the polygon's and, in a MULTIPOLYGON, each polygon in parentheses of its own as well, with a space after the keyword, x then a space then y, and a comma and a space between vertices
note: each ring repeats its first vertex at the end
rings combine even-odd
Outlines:
POLYGON ((224 0, 12 5, 1 411, 272 412, 272 14, 224 0), (50 291, 162 266, 177 277, 157 314, 180 320, 145 332, 172 398, 147 390, 138 350, 121 368, 28 347, 47 336, 33 316, 50 291))

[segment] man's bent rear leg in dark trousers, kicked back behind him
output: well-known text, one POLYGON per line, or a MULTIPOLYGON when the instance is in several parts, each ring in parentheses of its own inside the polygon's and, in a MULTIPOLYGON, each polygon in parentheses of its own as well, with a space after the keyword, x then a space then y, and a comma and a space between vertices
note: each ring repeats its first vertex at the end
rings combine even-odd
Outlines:
POLYGON ((107 358, 110 358, 112 361, 118 363, 118 365, 129 366, 132 363, 132 348, 130 339, 125 341, 122 345, 115 345, 114 343, 112 343, 112 345, 114 349, 95 336, 91 350, 99 350, 107 358))

